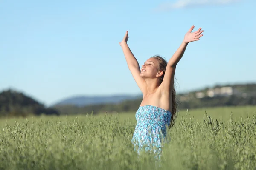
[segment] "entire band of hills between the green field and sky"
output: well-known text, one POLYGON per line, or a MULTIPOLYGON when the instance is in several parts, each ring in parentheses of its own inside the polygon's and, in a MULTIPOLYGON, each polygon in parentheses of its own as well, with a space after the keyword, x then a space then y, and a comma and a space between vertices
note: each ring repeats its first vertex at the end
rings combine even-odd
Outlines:
MULTIPOLYGON (((256 105, 256 84, 215 85, 197 91, 177 94, 178 109, 217 106, 256 105)), ((46 108, 23 93, 7 90, 0 93, 0 116, 27 116, 29 114, 86 114, 104 112, 135 112, 142 96, 80 96, 65 99, 46 108)))

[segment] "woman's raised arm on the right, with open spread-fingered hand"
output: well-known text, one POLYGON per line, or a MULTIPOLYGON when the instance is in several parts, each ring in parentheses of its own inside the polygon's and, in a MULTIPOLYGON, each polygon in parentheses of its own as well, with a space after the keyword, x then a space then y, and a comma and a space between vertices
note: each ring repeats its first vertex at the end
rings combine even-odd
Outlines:
POLYGON ((170 92, 172 91, 173 84, 174 84, 174 74, 177 63, 180 61, 181 57, 183 56, 186 47, 189 42, 198 41, 200 37, 203 36, 201 34, 204 31, 201 31, 201 28, 198 31, 192 32, 195 26, 192 26, 189 31, 186 33, 183 42, 181 43, 180 47, 177 51, 173 54, 172 58, 169 60, 166 71, 163 77, 163 82, 160 86, 163 91, 170 92))

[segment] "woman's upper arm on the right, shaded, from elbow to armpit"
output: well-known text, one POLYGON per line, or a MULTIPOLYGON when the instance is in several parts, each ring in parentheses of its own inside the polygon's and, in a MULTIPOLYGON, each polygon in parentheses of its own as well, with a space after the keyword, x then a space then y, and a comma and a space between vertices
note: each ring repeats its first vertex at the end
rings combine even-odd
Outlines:
POLYGON ((161 83, 160 89, 165 92, 172 91, 174 85, 174 74, 176 66, 171 66, 167 64, 166 71, 163 77, 163 82, 161 83))

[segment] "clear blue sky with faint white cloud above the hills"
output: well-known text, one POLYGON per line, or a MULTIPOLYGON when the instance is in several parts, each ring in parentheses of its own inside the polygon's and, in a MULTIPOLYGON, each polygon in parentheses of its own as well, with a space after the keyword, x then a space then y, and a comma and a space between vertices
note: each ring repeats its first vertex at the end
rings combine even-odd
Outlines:
POLYGON ((155 54, 169 60, 192 25, 204 36, 177 65, 178 92, 256 82, 255 7, 255 0, 1 0, 0 91, 45 105, 140 94, 119 46, 125 31, 141 66, 155 54))

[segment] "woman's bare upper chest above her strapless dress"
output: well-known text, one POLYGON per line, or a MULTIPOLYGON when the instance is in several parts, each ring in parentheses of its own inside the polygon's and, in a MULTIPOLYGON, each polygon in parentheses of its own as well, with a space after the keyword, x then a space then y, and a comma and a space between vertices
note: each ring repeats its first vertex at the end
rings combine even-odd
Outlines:
POLYGON ((150 95, 143 94, 143 100, 140 106, 152 105, 171 112, 172 110, 172 92, 163 93, 160 88, 150 95))

